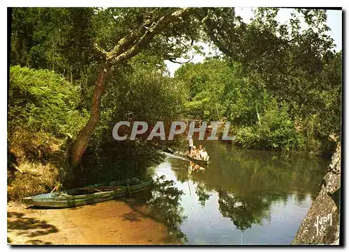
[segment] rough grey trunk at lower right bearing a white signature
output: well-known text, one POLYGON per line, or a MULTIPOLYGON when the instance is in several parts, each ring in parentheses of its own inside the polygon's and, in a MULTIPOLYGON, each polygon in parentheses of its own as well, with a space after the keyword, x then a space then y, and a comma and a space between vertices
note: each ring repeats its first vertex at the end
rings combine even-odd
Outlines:
POLYGON ((341 143, 292 244, 339 244, 341 143))

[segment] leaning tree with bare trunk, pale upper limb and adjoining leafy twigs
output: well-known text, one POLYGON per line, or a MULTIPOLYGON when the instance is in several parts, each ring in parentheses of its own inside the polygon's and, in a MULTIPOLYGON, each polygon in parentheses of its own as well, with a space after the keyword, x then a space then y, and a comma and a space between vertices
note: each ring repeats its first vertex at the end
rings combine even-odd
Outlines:
MULTIPOLYGON (((98 70, 98 78, 94 88, 94 94, 91 102, 90 118, 87 125, 82 131, 77 134, 73 149, 71 152, 71 165, 76 170, 80 163, 82 154, 89 144, 92 134, 98 125, 98 121, 101 113, 101 96, 103 94, 105 86, 105 75, 106 72, 112 68, 113 65, 124 63, 133 56, 139 54, 142 49, 147 47, 153 40, 154 36, 161 34, 167 26, 172 24, 172 29, 176 31, 175 25, 181 24, 188 19, 188 15, 191 13, 192 8, 159 8, 159 9, 146 9, 144 12, 129 14, 129 9, 126 9, 125 13, 114 13, 124 14, 126 19, 128 15, 133 15, 135 20, 140 20, 139 24, 123 37, 119 38, 118 42, 114 47, 107 52, 99 45, 95 44, 98 52, 103 56, 103 61, 100 63, 98 70)), ((133 10, 131 10, 132 12, 133 10)), ((119 16, 117 16, 117 19, 119 16)), ((121 15, 121 18, 123 16, 121 15)), ((165 34, 166 36, 173 36, 174 34, 165 34)))

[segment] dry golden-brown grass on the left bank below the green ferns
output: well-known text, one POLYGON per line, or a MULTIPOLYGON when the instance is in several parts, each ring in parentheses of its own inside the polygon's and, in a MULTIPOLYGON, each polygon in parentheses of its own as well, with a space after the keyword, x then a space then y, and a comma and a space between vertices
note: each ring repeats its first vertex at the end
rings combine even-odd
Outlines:
POLYGON ((67 177, 66 139, 47 132, 17 127, 8 133, 8 164, 16 164, 23 173, 8 168, 8 200, 51 191, 67 177))

